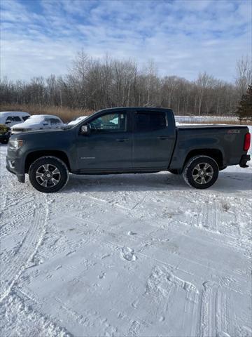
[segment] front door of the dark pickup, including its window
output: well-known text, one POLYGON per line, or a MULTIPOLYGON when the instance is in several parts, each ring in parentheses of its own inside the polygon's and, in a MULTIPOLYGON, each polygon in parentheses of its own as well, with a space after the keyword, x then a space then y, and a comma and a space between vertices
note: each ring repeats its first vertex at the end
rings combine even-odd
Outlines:
POLYGON ((106 112, 89 121, 90 134, 78 135, 78 166, 89 171, 132 168, 130 112, 106 112))

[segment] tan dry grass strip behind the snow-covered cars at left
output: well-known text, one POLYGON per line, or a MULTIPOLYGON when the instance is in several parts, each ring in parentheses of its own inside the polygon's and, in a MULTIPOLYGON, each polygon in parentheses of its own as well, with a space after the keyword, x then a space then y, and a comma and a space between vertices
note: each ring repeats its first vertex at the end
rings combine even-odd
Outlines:
POLYGON ((92 114, 91 110, 69 109, 67 107, 47 107, 42 105, 0 105, 0 111, 25 111, 29 114, 54 114, 68 123, 80 116, 92 114))

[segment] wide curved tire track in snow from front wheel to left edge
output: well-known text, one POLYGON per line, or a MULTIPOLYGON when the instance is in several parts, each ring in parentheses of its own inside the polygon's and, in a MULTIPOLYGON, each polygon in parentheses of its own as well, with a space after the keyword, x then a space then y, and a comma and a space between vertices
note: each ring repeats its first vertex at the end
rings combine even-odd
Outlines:
POLYGON ((34 258, 38 247, 43 241, 45 225, 49 214, 47 198, 48 197, 45 196, 45 207, 37 207, 34 210, 34 218, 31 221, 29 229, 27 230, 24 239, 22 239, 19 248, 15 251, 15 256, 10 260, 6 269, 1 270, 0 303, 6 296, 8 296, 13 285, 18 281, 22 271, 25 270, 28 263, 34 258), (43 210, 45 210, 45 213, 43 213, 43 210))

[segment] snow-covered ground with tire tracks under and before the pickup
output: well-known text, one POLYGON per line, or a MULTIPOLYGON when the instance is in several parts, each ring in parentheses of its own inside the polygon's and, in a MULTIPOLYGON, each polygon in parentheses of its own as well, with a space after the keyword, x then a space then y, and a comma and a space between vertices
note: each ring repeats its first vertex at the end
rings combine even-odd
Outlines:
POLYGON ((41 194, 5 155, 1 337, 251 336, 252 166, 209 190, 153 173, 41 194))

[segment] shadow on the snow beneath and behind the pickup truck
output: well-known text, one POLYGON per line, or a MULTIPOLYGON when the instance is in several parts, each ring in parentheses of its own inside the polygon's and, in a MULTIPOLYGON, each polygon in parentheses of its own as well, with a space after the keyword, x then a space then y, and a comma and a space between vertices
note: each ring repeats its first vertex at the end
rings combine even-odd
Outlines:
MULTIPOLYGON (((249 172, 220 172, 216 183, 207 190, 211 192, 237 192, 251 190, 252 176, 249 172)), ((123 191, 171 191, 195 190, 189 187, 181 176, 172 173, 132 173, 113 174, 105 176, 76 176, 70 175, 69 182, 62 190, 63 193, 71 192, 123 192, 123 191)))

